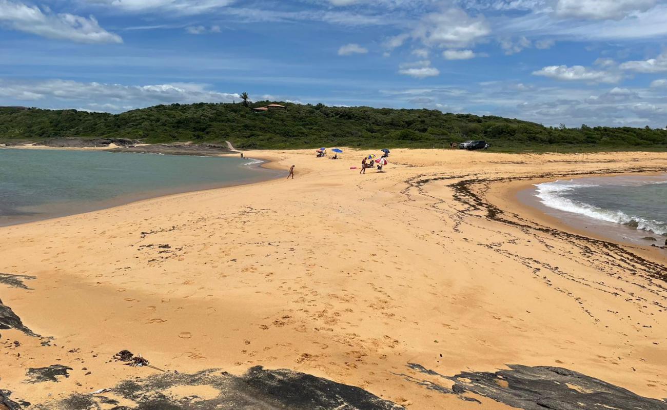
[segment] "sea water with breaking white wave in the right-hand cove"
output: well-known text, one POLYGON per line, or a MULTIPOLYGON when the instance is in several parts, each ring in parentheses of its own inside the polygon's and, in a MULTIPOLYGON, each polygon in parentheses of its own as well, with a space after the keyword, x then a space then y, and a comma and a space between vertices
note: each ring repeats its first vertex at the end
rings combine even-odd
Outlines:
POLYGON ((667 237, 667 175, 554 181, 536 185, 534 195, 558 217, 618 227, 626 239, 667 237))

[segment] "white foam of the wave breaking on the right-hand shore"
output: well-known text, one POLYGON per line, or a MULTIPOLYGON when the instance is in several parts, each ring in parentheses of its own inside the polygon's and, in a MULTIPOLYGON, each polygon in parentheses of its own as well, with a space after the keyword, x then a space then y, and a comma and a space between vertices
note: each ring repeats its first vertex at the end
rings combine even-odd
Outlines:
POLYGON ((578 184, 572 181, 555 181, 540 183, 535 185, 536 197, 546 207, 558 209, 558 211, 565 211, 584 215, 586 217, 597 219, 598 221, 606 221, 611 223, 620 223, 643 231, 649 231, 658 235, 667 234, 667 226, 660 221, 650 221, 642 217, 628 215, 622 211, 612 211, 591 205, 590 203, 574 201, 565 197, 563 194, 572 191, 573 189, 584 187, 598 187, 600 185, 592 184, 578 184))

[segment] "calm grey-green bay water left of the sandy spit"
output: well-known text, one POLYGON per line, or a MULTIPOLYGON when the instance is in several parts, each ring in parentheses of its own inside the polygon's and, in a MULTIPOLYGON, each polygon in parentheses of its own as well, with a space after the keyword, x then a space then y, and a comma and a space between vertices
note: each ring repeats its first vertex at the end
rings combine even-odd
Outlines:
POLYGON ((0 225, 277 176, 256 160, 0 149, 0 225))

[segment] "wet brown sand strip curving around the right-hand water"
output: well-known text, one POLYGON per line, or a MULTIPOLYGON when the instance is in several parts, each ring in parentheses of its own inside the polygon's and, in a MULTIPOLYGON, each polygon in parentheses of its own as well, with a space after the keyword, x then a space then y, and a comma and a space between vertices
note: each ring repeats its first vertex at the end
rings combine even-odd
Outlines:
MULTIPOLYGON (((667 170, 666 170, 667 171, 667 170)), ((522 194, 528 194, 529 191, 534 191, 535 186, 540 183, 548 183, 556 181, 556 179, 582 179, 588 177, 618 177, 623 175, 645 175, 645 176, 654 176, 654 175, 664 175, 666 171, 658 172, 640 172, 636 173, 634 171, 624 172, 624 173, 592 173, 592 174, 578 174, 578 175, 561 175, 558 177, 544 177, 536 178, 522 181, 510 181, 505 183, 497 183, 496 186, 492 187, 489 191, 488 198, 494 205, 498 205, 501 209, 520 209, 517 211, 522 217, 530 219, 536 223, 546 225, 554 229, 559 229, 561 231, 566 231, 573 233, 575 235, 581 235, 584 237, 589 237, 598 241, 608 241, 615 243, 616 245, 628 247, 641 253, 644 257, 657 258, 660 261, 667 261, 667 249, 664 246, 656 244, 655 247, 651 246, 650 243, 642 245, 640 243, 633 243, 630 241, 621 241, 617 237, 612 235, 604 235, 600 233, 602 229, 588 229, 586 227, 578 227, 578 224, 567 223, 562 219, 550 215, 545 211, 548 207, 544 205, 533 205, 532 201, 536 199, 531 198, 526 200, 520 197, 522 194), (544 207, 544 209, 542 209, 544 207)), ((619 229, 621 227, 619 226, 619 229)), ((648 235, 648 233, 647 233, 648 235)))

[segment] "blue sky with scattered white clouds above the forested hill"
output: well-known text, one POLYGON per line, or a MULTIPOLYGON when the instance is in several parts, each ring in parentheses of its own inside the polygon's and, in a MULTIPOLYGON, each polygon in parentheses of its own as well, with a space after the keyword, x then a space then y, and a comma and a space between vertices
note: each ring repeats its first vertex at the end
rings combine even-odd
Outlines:
POLYGON ((0 0, 0 105, 259 101, 666 127, 667 0, 0 0))

